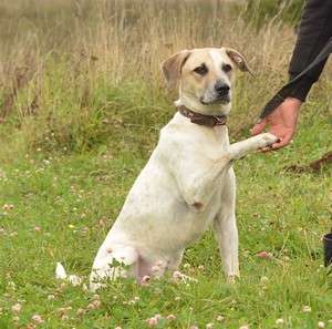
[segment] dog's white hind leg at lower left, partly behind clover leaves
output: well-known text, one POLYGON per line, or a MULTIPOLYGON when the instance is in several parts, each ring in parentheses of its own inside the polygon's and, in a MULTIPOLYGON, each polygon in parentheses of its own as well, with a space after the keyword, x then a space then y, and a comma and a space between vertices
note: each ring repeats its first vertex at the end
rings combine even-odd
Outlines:
POLYGON ((135 275, 138 253, 134 247, 116 245, 102 246, 94 259, 90 276, 90 289, 95 291, 103 286, 106 279, 114 280, 118 277, 135 275))

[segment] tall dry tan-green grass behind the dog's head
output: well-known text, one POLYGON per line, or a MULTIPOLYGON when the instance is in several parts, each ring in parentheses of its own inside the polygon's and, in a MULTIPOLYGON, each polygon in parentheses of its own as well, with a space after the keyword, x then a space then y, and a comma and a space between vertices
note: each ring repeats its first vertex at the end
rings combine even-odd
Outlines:
POLYGON ((256 72, 237 80, 230 126, 242 132, 287 79, 294 42, 278 19, 250 28, 237 1, 6 0, 0 9, 0 137, 10 148, 81 151, 110 138, 151 147, 175 111, 159 64, 197 47, 238 49, 256 72))

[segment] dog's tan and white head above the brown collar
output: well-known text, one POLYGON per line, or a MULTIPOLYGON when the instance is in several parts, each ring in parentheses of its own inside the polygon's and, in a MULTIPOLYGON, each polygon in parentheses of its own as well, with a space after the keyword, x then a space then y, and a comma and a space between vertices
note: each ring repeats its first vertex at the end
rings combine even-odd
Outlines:
POLYGON ((250 72, 245 58, 230 48, 184 50, 162 64, 169 86, 179 86, 179 101, 205 114, 228 114, 236 68, 250 72))

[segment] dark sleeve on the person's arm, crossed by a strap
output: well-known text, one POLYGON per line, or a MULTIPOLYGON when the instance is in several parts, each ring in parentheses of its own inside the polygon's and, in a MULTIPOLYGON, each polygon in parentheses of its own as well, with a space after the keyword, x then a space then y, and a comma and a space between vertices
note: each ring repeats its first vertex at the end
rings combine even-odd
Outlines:
MULTIPOLYGON (((290 80, 300 74, 320 53, 332 37, 332 0, 307 0, 299 35, 289 66, 290 80)), ((305 101, 326 61, 305 73, 292 88, 289 96, 305 101)))

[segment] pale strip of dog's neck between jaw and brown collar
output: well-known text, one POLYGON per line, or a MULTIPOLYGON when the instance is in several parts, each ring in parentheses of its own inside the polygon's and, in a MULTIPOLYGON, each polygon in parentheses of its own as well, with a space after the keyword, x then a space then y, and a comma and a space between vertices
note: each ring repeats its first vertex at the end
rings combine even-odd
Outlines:
POLYGON ((193 100, 185 94, 180 94, 179 99, 175 102, 175 106, 186 106, 188 110, 204 114, 204 115, 225 115, 228 116, 231 104, 211 104, 205 105, 196 100, 193 100))

